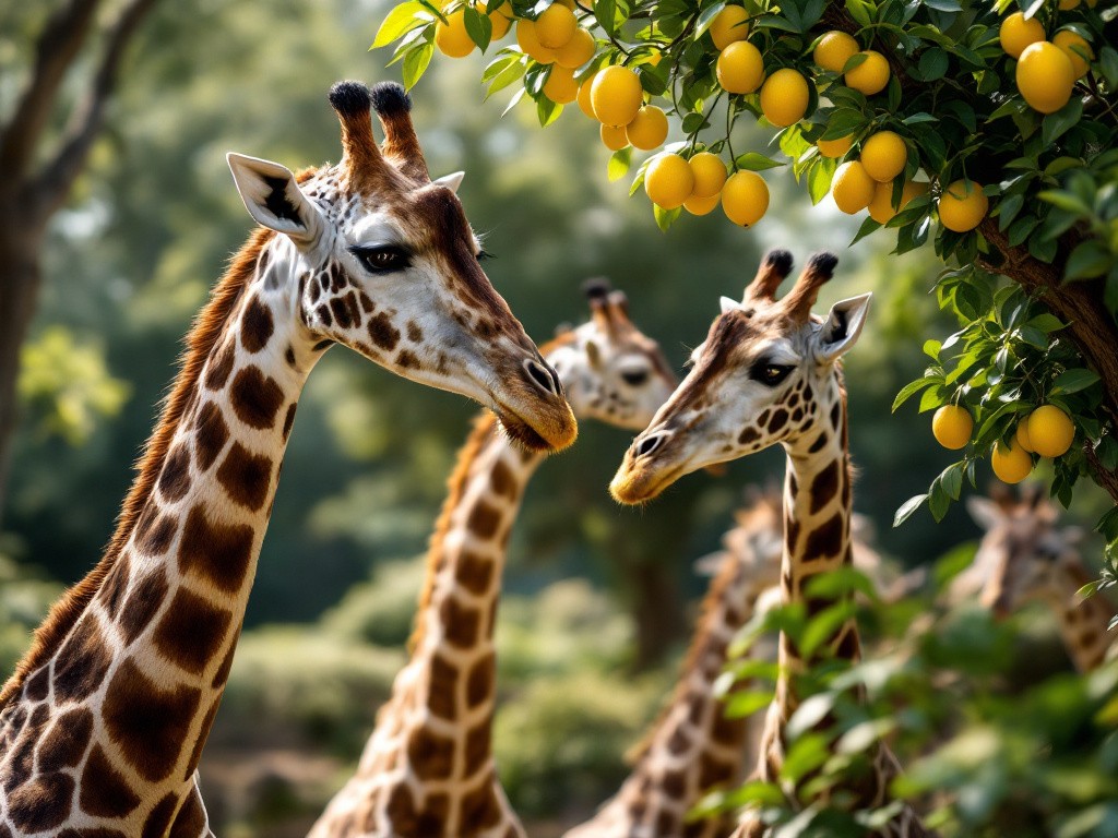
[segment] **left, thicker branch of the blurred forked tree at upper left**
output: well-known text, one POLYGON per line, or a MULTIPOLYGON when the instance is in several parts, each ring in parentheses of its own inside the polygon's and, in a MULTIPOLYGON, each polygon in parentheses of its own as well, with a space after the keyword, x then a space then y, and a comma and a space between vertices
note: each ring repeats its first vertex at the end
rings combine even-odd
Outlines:
POLYGON ((35 68, 11 118, 0 126, 0 171, 19 180, 55 105, 66 70, 85 41, 101 0, 70 0, 47 20, 36 45, 35 68))

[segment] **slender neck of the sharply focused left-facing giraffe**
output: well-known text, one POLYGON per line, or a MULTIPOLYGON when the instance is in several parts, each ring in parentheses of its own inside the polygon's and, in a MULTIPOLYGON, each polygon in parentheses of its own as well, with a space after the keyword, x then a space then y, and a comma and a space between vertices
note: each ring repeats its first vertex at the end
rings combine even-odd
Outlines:
MULTIPOLYGON (((847 566, 852 563, 851 468, 846 445, 846 401, 837 381, 821 397, 824 420, 817 435, 808 434, 802 444, 788 446, 785 475, 785 544, 780 560, 780 590, 785 606, 803 602, 811 619, 833 604, 830 598, 815 598, 805 592, 812 577, 847 566)), ((858 626, 846 620, 819 655, 855 660, 860 655, 858 626)), ((780 676, 776 702, 780 718, 788 721, 799 702, 793 679, 812 659, 804 659, 799 649, 784 632, 780 635, 780 676)))

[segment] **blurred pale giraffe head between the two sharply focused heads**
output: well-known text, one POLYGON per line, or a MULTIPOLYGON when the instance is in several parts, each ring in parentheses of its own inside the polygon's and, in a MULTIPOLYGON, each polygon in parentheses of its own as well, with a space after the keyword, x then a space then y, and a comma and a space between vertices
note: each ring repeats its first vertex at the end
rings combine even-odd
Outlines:
POLYGON ((590 320, 561 331, 547 352, 579 419, 641 430, 678 379, 660 344, 628 317, 628 299, 603 279, 584 286, 590 320))

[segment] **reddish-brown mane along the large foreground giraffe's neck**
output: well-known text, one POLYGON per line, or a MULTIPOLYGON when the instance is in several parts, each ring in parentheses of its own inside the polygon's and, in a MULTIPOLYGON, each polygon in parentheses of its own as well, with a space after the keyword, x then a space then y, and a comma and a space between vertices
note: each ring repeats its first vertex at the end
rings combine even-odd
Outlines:
MULTIPOLYGON (((300 180, 306 180, 313 173, 313 169, 304 171, 300 180)), ((253 231, 248 241, 230 259, 225 276, 214 286, 209 302, 195 317, 179 358, 179 374, 161 400, 162 410, 159 420, 136 463, 136 476, 121 506, 116 528, 97 564, 55 602, 46 619, 36 629, 30 648, 0 691, 0 710, 18 694, 27 676, 46 661, 61 639, 74 628, 101 589, 105 577, 115 566, 116 559, 127 544, 144 504, 155 488, 155 480, 159 478, 171 440, 198 389, 202 366, 255 274, 260 251, 275 235, 273 230, 263 227, 253 231)))

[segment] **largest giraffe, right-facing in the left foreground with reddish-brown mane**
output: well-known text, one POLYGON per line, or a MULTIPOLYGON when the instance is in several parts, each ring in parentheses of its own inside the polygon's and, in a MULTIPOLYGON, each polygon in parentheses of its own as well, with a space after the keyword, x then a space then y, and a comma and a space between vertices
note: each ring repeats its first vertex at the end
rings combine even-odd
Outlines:
POLYGON ((432 182, 402 87, 334 85, 338 165, 229 154, 260 225, 196 320, 117 527, 0 692, 0 836, 211 835, 196 768, 295 406, 333 343, 494 408, 528 448, 576 425, 432 182), (376 109, 383 149, 372 133, 376 109))

